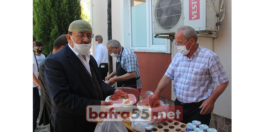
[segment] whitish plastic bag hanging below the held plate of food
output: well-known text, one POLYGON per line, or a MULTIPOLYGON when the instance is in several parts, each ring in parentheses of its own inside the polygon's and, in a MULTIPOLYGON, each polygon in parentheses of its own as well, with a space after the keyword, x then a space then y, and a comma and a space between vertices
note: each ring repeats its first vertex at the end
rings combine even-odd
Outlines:
MULTIPOLYGON (((114 110, 115 113, 115 110, 114 110)), ((108 116, 102 123, 98 123, 95 132, 128 132, 125 125, 122 123, 120 117, 117 118, 114 117, 114 114, 112 114, 110 118, 110 114, 108 113, 108 116)))

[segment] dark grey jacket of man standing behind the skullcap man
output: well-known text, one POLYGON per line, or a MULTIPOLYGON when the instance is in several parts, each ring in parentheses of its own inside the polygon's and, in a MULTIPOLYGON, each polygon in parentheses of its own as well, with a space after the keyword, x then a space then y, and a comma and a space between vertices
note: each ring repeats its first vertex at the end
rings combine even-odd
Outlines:
POLYGON ((39 111, 39 125, 47 125, 50 123, 50 116, 51 116, 51 100, 48 95, 47 88, 45 86, 45 79, 44 79, 44 64, 47 58, 49 58, 52 54, 50 54, 40 63, 39 65, 39 76, 40 76, 40 111, 39 111))

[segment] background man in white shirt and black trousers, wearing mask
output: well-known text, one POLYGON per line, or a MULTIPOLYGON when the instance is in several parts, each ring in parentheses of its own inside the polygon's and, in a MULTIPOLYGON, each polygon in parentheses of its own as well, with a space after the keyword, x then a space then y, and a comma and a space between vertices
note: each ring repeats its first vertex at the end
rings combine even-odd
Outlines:
POLYGON ((98 67, 101 71, 102 80, 105 81, 105 77, 108 75, 108 49, 103 44, 103 38, 101 35, 95 36, 95 44, 97 49, 95 51, 94 58, 97 61, 98 67))

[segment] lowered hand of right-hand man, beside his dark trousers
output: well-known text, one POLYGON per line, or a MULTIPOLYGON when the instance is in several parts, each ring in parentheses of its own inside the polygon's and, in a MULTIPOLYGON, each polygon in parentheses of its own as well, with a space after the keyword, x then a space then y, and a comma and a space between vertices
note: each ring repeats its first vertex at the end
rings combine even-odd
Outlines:
POLYGON ((200 114, 207 115, 212 113, 214 110, 214 103, 215 101, 210 98, 207 98, 205 101, 203 101, 199 107, 200 109, 202 108, 200 114))

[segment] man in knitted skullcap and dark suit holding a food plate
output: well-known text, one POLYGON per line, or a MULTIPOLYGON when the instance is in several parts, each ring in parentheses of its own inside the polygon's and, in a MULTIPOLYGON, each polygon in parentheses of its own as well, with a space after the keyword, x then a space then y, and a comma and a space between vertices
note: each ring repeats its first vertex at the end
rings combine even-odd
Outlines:
POLYGON ((88 105, 112 105, 110 95, 126 94, 102 81, 97 62, 90 55, 92 27, 85 20, 73 21, 66 35, 68 44, 46 59, 44 77, 51 99, 51 132, 94 131, 86 120, 88 105))

